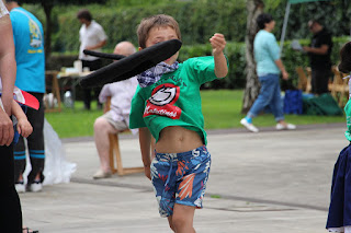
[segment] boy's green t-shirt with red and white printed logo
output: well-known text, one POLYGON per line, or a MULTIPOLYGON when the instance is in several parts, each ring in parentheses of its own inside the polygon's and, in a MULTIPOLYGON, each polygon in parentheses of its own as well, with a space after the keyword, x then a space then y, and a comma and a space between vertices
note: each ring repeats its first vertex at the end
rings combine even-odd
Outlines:
POLYGON ((158 141, 163 128, 181 126, 196 131, 206 144, 200 86, 216 79, 214 68, 212 56, 191 58, 158 82, 138 88, 132 101, 129 127, 147 127, 158 141))

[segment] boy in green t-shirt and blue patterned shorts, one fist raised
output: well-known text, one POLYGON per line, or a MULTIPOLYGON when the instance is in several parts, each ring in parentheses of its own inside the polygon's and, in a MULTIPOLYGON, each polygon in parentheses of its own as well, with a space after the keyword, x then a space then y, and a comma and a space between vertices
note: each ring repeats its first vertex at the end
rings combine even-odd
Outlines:
MULTIPOLYGON (((144 19, 137 30, 139 50, 169 39, 181 39, 177 21, 165 14, 144 19)), ((200 86, 228 73, 224 35, 210 39, 213 57, 178 63, 179 53, 138 75, 131 128, 139 128, 145 175, 152 180, 161 217, 174 232, 195 232, 193 218, 202 208, 211 154, 201 109, 200 86), (150 138, 156 156, 150 161, 150 138)))

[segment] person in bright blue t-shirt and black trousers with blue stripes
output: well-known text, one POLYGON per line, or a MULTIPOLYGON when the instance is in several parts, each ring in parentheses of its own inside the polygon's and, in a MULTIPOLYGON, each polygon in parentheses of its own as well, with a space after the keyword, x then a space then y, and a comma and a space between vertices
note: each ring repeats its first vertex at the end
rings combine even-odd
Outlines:
POLYGON ((5 0, 13 27, 15 45, 16 80, 15 85, 35 96, 39 102, 38 110, 27 108, 26 117, 33 127, 27 137, 27 148, 32 170, 24 184, 23 173, 26 165, 23 137, 14 145, 14 178, 19 193, 39 191, 44 180, 44 103, 45 54, 44 31, 42 23, 29 11, 21 8, 16 0, 5 0))

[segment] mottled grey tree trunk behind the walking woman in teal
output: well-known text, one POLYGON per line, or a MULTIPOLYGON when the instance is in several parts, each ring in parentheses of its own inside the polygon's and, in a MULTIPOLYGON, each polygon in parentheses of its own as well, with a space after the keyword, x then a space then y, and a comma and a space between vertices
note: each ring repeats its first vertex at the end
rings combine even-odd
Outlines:
POLYGON ((260 91, 260 84, 256 73, 256 62, 253 58, 253 39, 258 32, 256 19, 263 12, 262 0, 247 0, 247 31, 246 31, 246 88, 242 98, 242 113, 247 113, 252 106, 260 91))

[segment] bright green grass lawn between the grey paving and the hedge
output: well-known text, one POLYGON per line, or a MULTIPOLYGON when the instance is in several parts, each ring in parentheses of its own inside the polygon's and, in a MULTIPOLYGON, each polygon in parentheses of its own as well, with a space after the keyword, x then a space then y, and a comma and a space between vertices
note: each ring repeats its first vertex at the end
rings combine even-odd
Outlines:
MULTIPOLYGON (((242 90, 202 91, 202 108, 205 117, 206 129, 239 128, 240 119, 245 116, 240 113, 242 90)), ((60 138, 84 137, 93 135, 93 123, 102 115, 102 110, 95 109, 92 103, 91 110, 83 110, 82 102, 76 102, 76 108, 65 108, 61 113, 47 113, 46 119, 54 127, 60 138)), ((344 116, 306 116, 285 115, 286 121, 295 125, 344 123, 344 116)), ((274 117, 271 114, 254 118, 257 127, 274 126, 274 117)))

